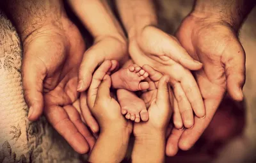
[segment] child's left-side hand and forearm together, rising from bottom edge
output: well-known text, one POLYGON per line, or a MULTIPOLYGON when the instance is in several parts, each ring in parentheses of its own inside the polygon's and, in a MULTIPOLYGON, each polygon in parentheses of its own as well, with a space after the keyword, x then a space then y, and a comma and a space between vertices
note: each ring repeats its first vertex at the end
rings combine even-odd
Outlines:
POLYGON ((132 132, 131 121, 125 120, 121 107, 110 95, 111 61, 104 61, 93 74, 88 89, 88 104, 100 126, 100 134, 90 154, 90 162, 121 162, 127 150, 132 132), (100 157, 99 157, 100 155, 100 157))

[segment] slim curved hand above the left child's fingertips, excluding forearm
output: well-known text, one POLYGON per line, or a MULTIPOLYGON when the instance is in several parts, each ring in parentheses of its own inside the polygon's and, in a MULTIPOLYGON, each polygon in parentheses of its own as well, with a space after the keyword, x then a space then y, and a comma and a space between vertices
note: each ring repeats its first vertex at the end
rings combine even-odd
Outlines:
POLYGON ((128 59, 127 42, 122 36, 104 36, 95 39, 90 49, 84 52, 79 68, 77 91, 85 91, 90 86, 95 68, 106 59, 115 59, 123 63, 128 59))

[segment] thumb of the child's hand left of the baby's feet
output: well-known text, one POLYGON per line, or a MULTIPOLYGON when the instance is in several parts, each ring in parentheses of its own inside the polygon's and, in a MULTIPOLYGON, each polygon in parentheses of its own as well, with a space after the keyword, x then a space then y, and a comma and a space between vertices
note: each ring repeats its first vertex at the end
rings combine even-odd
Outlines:
POLYGON ((97 98, 110 98, 111 78, 105 75, 103 81, 100 83, 97 98))

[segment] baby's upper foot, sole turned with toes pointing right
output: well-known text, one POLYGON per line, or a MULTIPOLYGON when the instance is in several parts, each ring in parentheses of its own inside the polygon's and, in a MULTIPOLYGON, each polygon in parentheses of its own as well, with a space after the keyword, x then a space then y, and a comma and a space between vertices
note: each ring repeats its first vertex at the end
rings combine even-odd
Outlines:
POLYGON ((148 89, 148 82, 141 82, 148 77, 138 65, 130 65, 127 68, 121 68, 111 75, 112 87, 115 89, 127 89, 129 91, 140 91, 148 89))

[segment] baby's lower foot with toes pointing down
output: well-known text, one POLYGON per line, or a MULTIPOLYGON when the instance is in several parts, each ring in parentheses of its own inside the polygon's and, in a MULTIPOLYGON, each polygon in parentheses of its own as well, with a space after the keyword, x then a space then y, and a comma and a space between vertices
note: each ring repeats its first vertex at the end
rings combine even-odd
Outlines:
POLYGON ((135 122, 148 120, 148 111, 145 102, 136 96, 135 93, 127 91, 126 89, 117 90, 118 102, 121 106, 121 113, 125 118, 135 122))

